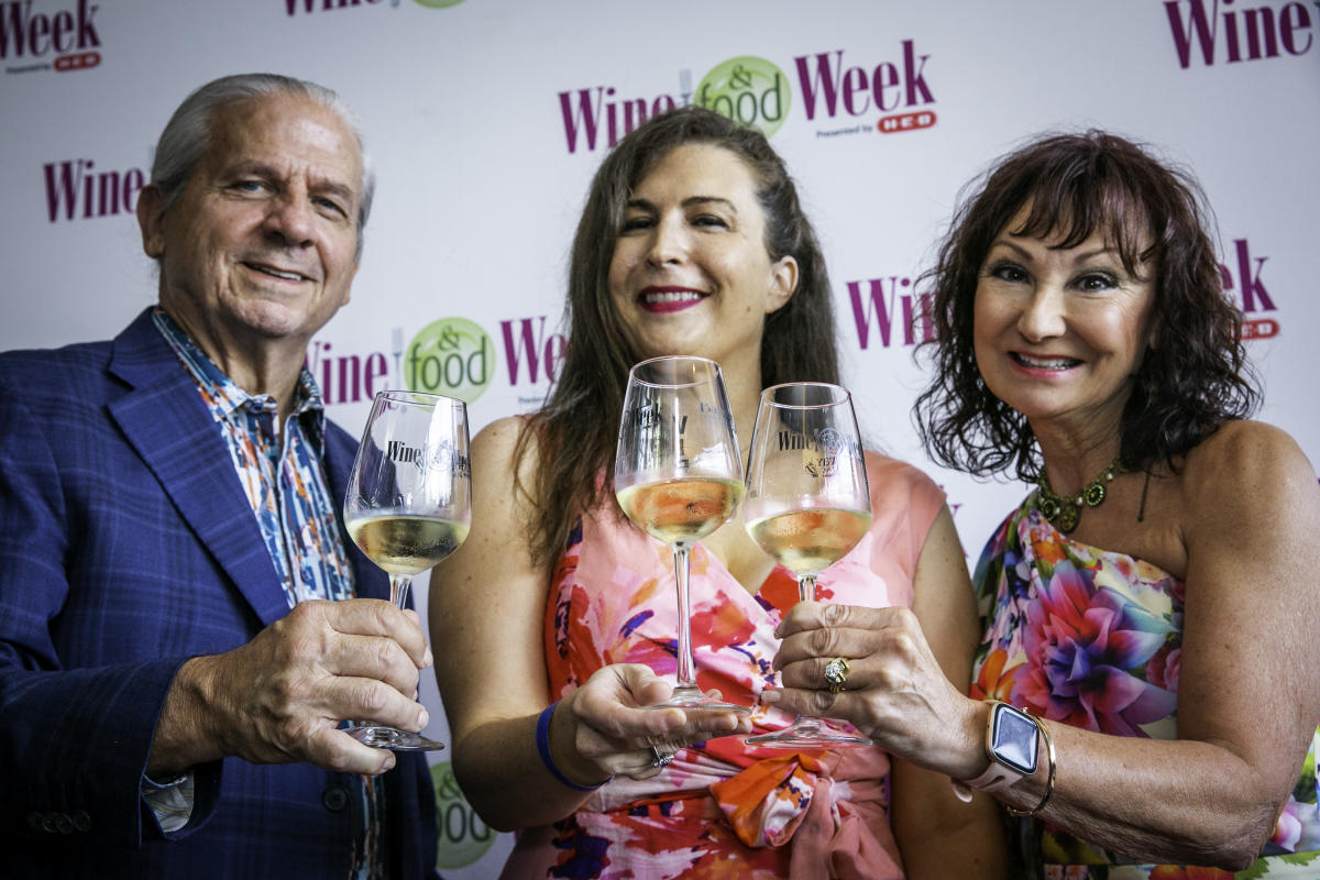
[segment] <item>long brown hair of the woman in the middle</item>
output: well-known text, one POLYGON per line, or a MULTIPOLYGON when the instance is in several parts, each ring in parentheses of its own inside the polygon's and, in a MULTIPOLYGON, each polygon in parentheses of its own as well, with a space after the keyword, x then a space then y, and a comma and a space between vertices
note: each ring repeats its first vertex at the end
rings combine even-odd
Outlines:
POLYGON ((532 503, 532 555, 550 565, 568 542, 578 517, 614 504, 614 454, 628 369, 643 359, 609 292, 609 269, 634 187, 684 144, 713 144, 747 165, 766 212, 766 251, 771 261, 797 260, 797 289, 766 317, 760 348, 763 387, 784 381, 838 381, 834 313, 825 260, 797 187, 783 160, 760 132, 701 108, 652 117, 634 129, 605 158, 587 191, 573 239, 564 323, 569 329, 560 375, 541 409, 532 416, 515 450, 528 454, 536 438, 536 476, 517 484, 532 503), (603 480, 602 480, 603 478, 603 480))

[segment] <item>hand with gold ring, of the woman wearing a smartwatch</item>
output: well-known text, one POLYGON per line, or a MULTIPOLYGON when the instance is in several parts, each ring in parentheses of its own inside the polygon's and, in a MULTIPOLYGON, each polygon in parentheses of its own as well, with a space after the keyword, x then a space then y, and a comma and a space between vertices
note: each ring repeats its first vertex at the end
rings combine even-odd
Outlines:
POLYGON ((954 778, 985 768, 969 734, 978 730, 977 702, 944 674, 911 610, 800 602, 776 635, 783 689, 767 689, 763 702, 842 718, 890 753, 954 778), (836 657, 847 660, 849 673, 832 694, 825 665, 836 657))

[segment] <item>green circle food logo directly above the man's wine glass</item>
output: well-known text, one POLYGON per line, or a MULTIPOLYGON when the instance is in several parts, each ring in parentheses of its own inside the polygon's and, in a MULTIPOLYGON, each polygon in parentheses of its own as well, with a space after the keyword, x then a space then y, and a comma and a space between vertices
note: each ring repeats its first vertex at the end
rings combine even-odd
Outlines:
POLYGON ((473 402, 495 375, 495 346, 467 318, 441 318, 422 327, 404 352, 404 381, 409 391, 473 402))

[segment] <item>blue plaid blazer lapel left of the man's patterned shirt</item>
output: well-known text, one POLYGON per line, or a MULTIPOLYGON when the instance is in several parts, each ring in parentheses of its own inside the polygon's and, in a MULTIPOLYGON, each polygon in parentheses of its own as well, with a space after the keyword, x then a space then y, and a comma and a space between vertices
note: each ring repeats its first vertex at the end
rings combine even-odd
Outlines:
POLYGON ((289 612, 261 529, 197 385, 156 330, 150 309, 114 343, 110 371, 132 391, 111 416, 180 516, 269 625, 289 612))

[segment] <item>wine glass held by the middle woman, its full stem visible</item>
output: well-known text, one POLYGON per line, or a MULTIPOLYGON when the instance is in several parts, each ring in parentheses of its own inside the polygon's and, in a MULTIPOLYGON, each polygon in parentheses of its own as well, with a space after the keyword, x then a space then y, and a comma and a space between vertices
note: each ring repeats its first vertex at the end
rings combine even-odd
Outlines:
POLYGON ((614 463, 619 507, 673 550, 678 594, 678 670, 673 695, 653 708, 750 712, 697 687, 692 660, 688 553, 733 516, 742 500, 742 460, 719 364, 652 358, 628 372, 614 463))

